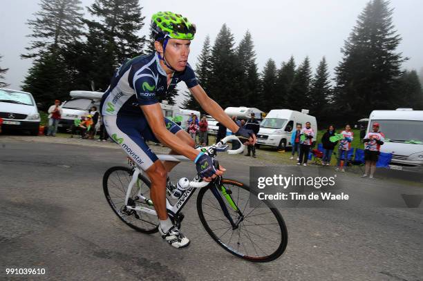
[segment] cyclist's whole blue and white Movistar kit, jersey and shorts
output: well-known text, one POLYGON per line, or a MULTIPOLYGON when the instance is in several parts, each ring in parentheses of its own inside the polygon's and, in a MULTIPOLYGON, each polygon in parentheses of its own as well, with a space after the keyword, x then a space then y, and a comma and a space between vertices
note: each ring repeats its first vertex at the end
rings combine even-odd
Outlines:
MULTIPOLYGON (((140 106, 157 104, 179 81, 188 88, 198 85, 196 75, 187 64, 182 72, 174 72, 169 87, 167 75, 156 53, 126 61, 111 79, 102 97, 101 113, 107 133, 142 170, 158 160, 147 141, 159 142, 150 128, 140 106)), ((164 125, 171 133, 181 128, 164 117, 164 125)))

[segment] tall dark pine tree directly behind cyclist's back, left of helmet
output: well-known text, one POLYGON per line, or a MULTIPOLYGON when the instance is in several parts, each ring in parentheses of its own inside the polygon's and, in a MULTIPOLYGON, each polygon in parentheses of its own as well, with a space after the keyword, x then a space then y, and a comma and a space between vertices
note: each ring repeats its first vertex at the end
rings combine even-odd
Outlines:
POLYGON ((141 10, 138 0, 95 0, 88 8, 95 19, 84 19, 88 26, 84 55, 91 58, 91 71, 84 75, 97 90, 109 86, 113 72, 126 59, 142 54, 145 37, 137 35, 144 26, 141 10))

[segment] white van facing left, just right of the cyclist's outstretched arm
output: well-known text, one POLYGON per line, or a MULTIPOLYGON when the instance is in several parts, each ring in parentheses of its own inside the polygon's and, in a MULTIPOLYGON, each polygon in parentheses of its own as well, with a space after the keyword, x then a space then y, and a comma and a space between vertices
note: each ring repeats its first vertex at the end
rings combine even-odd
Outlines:
POLYGON ((297 127, 297 124, 301 124, 304 128, 306 122, 310 122, 315 132, 312 139, 315 142, 317 138, 316 117, 295 110, 272 109, 260 124, 260 130, 257 134, 257 144, 276 146, 279 149, 292 146, 292 130, 297 127))

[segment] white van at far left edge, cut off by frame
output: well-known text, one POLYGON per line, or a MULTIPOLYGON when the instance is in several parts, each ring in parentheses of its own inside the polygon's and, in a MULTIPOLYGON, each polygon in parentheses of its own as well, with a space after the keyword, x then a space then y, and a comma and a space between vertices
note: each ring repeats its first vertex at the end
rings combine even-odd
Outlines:
POLYGON ((0 88, 0 117, 3 129, 28 130, 31 135, 38 135, 41 119, 30 93, 0 88))

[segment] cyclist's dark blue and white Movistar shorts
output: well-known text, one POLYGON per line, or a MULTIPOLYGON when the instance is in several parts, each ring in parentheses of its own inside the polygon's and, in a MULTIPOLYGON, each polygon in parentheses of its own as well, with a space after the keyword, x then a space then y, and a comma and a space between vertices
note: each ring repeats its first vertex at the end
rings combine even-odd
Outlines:
MULTIPOLYGON (((176 123, 164 117, 167 130, 176 134, 182 128, 176 123)), ((133 162, 146 171, 158 160, 156 154, 151 151, 147 141, 160 143, 154 135, 145 117, 106 115, 104 126, 111 139, 122 146, 126 154, 133 162)))

